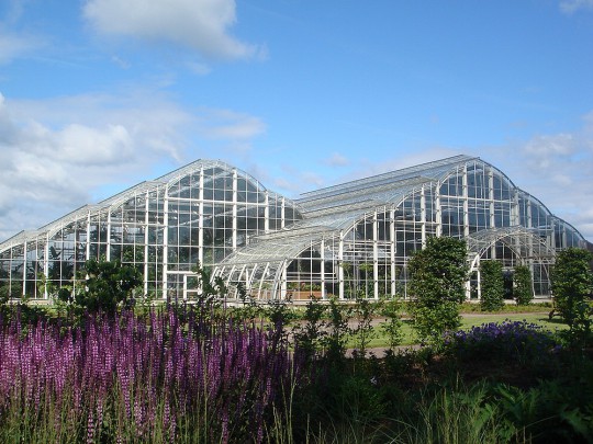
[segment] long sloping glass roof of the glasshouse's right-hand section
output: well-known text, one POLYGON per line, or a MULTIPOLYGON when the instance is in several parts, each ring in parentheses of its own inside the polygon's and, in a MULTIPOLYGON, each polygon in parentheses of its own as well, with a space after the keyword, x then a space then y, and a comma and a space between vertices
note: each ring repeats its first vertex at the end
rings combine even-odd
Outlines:
POLYGON ((295 200, 302 208, 302 220, 287 230, 255 238, 254 243, 227 257, 223 264, 277 262, 295 258, 311 242, 338 236, 340 230, 351 228, 369 213, 399 205, 404 197, 419 191, 422 186, 443 183, 459 167, 470 161, 479 161, 491 168, 523 196, 535 201, 552 216, 544 204, 518 189, 502 171, 478 157, 460 155, 304 193, 295 200))

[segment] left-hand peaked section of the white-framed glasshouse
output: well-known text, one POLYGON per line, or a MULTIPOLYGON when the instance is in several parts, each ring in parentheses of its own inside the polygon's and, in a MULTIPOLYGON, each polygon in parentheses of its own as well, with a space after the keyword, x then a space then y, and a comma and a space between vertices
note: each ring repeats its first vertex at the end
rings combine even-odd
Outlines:
POLYGON ((213 266, 250 237, 300 218, 292 201, 247 173, 198 161, 9 239, 0 246, 0 292, 44 298, 76 291, 77 272, 97 259, 137 267, 142 295, 184 297, 195 291, 188 276, 198 263, 213 266))

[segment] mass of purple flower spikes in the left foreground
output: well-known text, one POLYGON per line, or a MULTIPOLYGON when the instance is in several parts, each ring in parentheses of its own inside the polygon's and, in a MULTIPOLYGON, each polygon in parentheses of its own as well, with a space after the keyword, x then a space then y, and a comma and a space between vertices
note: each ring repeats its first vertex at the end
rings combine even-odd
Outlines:
MULTIPOLYGON (((65 328, 64 334, 60 327, 41 322, 27 326, 25 338, 13 321, 0 329, 0 403, 10 406, 18 395, 32 406, 43 400, 58 411, 66 408, 64 433, 80 433, 77 424, 86 420, 89 441, 98 439, 103 412, 112 408, 108 399, 121 402, 124 421, 136 424, 114 430, 118 441, 145 437, 160 405, 172 441, 180 415, 193 414, 208 399, 213 417, 224 419, 219 426, 230 441, 232 430, 262 433, 266 412, 290 383, 290 372, 300 374, 302 361, 291 361, 286 345, 270 342, 254 322, 208 325, 208 317, 188 314, 193 325, 187 332, 172 311, 153 311, 145 322, 132 312, 111 320, 88 316, 85 331, 65 328)), ((54 422, 60 421, 56 417, 54 422)))

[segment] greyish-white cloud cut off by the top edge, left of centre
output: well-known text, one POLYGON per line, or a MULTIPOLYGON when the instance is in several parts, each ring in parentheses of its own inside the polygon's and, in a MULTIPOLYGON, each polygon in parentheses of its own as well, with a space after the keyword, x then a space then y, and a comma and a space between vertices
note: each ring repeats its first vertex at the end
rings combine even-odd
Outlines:
POLYGON ((234 0, 88 0, 83 15, 99 33, 180 44, 209 58, 262 52, 228 34, 236 23, 234 0))

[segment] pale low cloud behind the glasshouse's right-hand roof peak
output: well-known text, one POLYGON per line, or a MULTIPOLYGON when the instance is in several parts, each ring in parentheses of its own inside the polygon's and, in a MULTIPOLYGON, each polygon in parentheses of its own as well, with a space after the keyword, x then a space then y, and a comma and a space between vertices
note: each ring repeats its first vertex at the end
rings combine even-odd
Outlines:
MULTIPOLYGON (((492 163, 518 187, 540 200, 552 214, 573 225, 593 242, 593 112, 583 117, 582 128, 574 133, 542 134, 507 146, 461 150, 439 147, 381 162, 358 159, 353 162, 355 169, 340 178, 333 178, 324 186, 459 153, 474 155, 492 163)), ((290 185, 282 183, 286 189, 290 185)))

